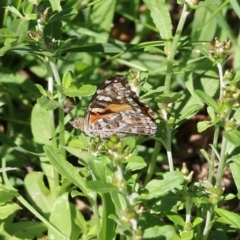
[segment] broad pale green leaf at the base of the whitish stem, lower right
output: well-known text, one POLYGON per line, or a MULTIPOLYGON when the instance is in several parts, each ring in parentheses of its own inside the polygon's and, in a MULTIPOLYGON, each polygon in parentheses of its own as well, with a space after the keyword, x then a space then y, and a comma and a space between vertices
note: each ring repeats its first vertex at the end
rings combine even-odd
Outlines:
POLYGON ((183 183, 183 174, 178 171, 168 172, 163 175, 163 180, 152 180, 146 185, 146 190, 140 195, 141 199, 152 199, 165 195, 183 183))

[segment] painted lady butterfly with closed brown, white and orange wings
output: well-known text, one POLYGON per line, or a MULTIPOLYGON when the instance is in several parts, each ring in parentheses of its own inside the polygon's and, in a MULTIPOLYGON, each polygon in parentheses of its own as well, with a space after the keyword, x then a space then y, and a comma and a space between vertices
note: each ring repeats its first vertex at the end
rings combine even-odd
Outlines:
POLYGON ((121 75, 108 78, 97 90, 84 119, 70 122, 88 136, 109 138, 125 136, 154 136, 157 126, 154 112, 139 100, 128 79, 121 75))

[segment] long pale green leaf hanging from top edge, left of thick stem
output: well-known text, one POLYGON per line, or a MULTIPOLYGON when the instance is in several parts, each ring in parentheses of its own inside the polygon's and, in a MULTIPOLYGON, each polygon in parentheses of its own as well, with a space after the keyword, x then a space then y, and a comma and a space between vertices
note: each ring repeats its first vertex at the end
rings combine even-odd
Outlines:
POLYGON ((165 48, 170 49, 172 40, 172 22, 165 0, 144 0, 153 22, 158 29, 161 38, 165 40, 165 48))

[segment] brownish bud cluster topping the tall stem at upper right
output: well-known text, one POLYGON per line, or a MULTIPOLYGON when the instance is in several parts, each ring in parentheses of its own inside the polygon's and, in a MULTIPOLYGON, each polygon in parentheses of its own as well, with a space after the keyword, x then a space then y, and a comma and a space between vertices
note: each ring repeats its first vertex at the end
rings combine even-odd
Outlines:
POLYGON ((225 58, 229 53, 232 47, 232 41, 228 40, 227 42, 218 41, 215 37, 214 49, 211 51, 211 56, 215 60, 225 58))

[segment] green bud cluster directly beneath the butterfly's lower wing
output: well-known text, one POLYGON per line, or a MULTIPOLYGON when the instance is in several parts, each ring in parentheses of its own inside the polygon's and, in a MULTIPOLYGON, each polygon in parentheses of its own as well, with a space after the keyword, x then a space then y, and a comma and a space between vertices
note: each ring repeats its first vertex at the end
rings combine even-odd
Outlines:
POLYGON ((121 163, 129 157, 130 152, 128 147, 123 146, 123 140, 119 139, 116 135, 112 135, 106 142, 109 158, 115 164, 121 163))

